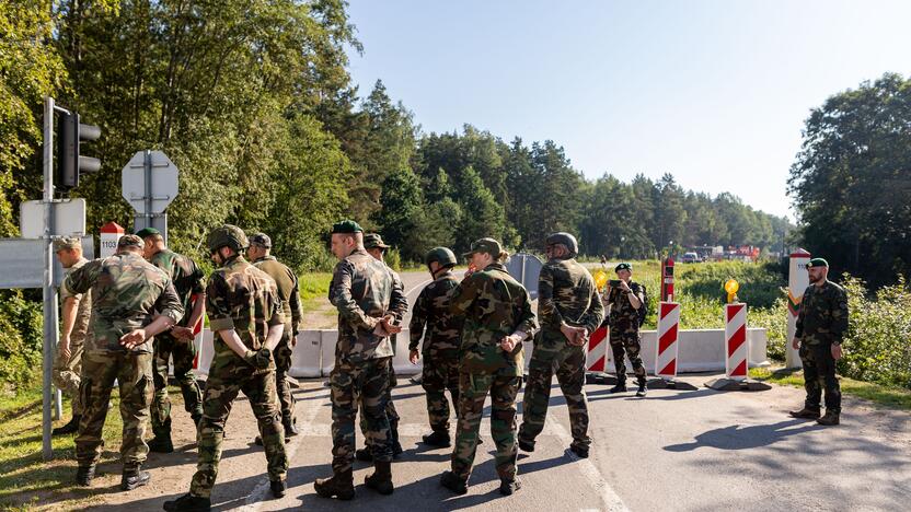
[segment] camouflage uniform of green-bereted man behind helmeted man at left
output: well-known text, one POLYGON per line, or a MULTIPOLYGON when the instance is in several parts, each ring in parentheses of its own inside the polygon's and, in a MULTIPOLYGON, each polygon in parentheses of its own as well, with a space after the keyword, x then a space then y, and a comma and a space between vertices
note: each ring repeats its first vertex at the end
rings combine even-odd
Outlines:
MULTIPOLYGON (((171 249, 155 253, 149 263, 164 270, 174 283, 174 289, 184 306, 184 317, 177 323, 181 327, 193 328, 193 295, 205 292, 205 275, 191 258, 171 249)), ((184 409, 193 421, 198 423, 203 417, 203 392, 193 374, 193 361, 196 359, 196 345, 193 340, 177 339, 170 331, 155 336, 154 341, 154 384, 155 395, 152 402, 152 433, 155 439, 171 439, 171 398, 168 396, 168 360, 174 360, 174 379, 181 386, 184 409)), ((153 450, 157 450, 153 447, 153 450)))

